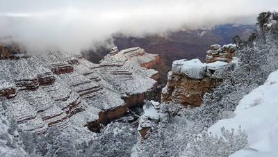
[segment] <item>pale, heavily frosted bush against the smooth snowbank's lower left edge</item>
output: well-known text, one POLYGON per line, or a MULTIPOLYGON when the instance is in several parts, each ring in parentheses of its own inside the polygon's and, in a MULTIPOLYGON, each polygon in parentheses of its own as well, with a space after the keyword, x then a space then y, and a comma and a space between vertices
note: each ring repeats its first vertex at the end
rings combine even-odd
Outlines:
POLYGON ((186 156, 189 157, 225 157, 243 149, 247 145, 247 134, 239 128, 237 133, 234 129, 221 129, 221 135, 213 135, 207 130, 193 137, 188 142, 186 156))

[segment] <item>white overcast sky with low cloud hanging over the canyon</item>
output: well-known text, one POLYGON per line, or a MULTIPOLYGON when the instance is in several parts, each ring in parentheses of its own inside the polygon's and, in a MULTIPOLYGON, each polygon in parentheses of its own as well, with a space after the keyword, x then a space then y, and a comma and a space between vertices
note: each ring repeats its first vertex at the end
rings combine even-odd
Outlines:
POLYGON ((218 24, 254 24, 278 0, 0 0, 0 38, 28 49, 79 51, 113 33, 145 35, 218 24))

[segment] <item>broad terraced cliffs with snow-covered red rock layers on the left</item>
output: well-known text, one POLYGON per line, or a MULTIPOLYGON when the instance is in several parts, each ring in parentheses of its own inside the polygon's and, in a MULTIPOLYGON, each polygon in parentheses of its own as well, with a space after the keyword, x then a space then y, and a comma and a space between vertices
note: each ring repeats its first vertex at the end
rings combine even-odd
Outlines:
POLYGON ((2 58, 0 111, 24 131, 46 133, 56 127, 79 140, 90 134, 85 126, 99 131, 99 123, 107 124, 143 103, 157 85, 152 77, 158 72, 140 65, 152 62, 156 55, 138 47, 108 55, 100 64, 59 51, 2 58), (140 94, 133 101, 133 95, 140 94))

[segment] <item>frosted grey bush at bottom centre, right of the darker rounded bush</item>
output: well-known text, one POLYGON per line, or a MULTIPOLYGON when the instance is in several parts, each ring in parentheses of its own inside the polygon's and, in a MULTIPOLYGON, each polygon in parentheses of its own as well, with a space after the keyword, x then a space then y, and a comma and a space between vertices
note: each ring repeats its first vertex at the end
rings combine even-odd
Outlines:
POLYGON ((136 144, 133 156, 179 156, 186 148, 190 124, 183 117, 172 117, 152 129, 147 139, 136 144))

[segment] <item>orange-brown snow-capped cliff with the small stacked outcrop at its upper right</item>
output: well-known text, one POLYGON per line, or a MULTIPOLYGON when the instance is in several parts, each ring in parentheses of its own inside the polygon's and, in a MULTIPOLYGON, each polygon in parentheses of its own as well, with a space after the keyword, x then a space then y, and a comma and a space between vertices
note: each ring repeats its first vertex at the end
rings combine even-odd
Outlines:
POLYGON ((236 45, 212 45, 207 53, 207 63, 198 59, 175 60, 162 92, 163 102, 185 106, 200 106, 203 96, 222 82, 224 67, 232 60, 236 45))

